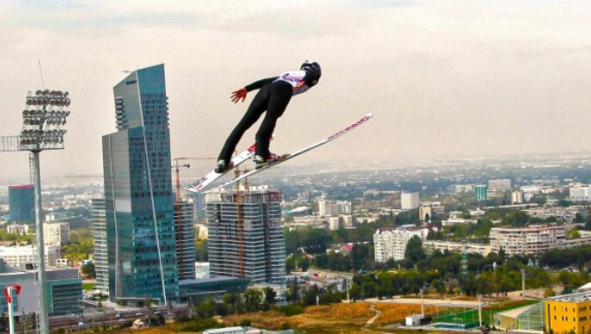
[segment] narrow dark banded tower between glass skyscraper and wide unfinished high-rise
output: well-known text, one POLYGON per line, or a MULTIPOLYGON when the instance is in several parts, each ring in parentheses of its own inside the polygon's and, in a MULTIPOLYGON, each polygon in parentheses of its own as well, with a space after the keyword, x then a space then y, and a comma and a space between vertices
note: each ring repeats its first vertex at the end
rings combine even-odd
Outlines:
POLYGON ((174 221, 177 224, 178 280, 195 279, 195 206, 197 203, 174 204, 174 221))

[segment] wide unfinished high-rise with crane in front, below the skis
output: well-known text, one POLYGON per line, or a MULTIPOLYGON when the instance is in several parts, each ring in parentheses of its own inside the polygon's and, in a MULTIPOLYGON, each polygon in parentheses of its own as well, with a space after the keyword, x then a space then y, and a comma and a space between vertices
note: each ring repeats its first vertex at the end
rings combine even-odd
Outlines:
POLYGON ((211 277, 284 283, 281 192, 241 187, 207 194, 207 252, 211 277))

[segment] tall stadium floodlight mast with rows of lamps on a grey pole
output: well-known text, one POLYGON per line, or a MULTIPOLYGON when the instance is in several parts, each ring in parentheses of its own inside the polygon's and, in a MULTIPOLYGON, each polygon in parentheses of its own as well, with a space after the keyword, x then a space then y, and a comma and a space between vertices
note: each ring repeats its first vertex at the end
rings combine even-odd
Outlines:
POLYGON ((22 131, 18 137, 18 150, 30 151, 34 160, 35 225, 37 226, 37 269, 39 288, 39 322, 41 333, 49 333, 45 278, 45 251, 43 243, 43 213, 41 212, 41 171, 39 156, 43 150, 64 148, 66 118, 70 111, 68 92, 37 90, 27 93, 22 111, 22 131))

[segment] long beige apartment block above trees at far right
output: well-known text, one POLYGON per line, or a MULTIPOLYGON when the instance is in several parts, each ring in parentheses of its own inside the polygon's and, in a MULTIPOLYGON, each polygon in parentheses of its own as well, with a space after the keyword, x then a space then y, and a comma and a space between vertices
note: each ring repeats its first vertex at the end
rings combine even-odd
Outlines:
POLYGON ((529 226, 522 228, 492 228, 489 234, 493 252, 505 254, 540 254, 554 248, 564 248, 564 226, 529 226))

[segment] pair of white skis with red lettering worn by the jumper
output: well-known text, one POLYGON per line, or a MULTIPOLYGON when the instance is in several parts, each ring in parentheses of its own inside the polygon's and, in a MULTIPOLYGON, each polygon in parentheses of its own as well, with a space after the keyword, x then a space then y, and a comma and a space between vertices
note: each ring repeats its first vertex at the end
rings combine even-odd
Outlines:
MULTIPOLYGON (((222 184, 220 187, 229 186, 230 184, 233 184, 233 183, 236 183, 240 180, 246 179, 247 177, 251 177, 254 174, 261 173, 261 171, 264 171, 264 170, 267 170, 271 167, 277 166, 278 164, 284 163, 287 160, 291 160, 291 159, 297 157, 298 155, 304 154, 307 151, 310 151, 310 150, 313 150, 314 148, 322 146, 322 145, 326 144, 327 142, 333 141, 336 138, 339 138, 342 135, 348 133, 349 131, 359 127, 359 125, 362 125, 363 123, 368 121, 370 118, 372 118, 372 116, 374 116, 374 113, 369 112, 368 114, 363 116, 362 119, 359 119, 359 121, 349 125, 348 127, 340 130, 339 132, 336 132, 335 134, 330 135, 327 138, 324 138, 323 140, 317 142, 316 144, 310 145, 308 147, 304 147, 301 150, 295 151, 294 153, 291 153, 291 154, 282 155, 281 158, 274 161, 273 163, 268 164, 268 165, 261 167, 259 169, 248 171, 248 173, 244 173, 238 177, 235 177, 234 179, 222 184)), ((242 164, 244 161, 251 158, 252 155, 254 154, 255 148, 256 148, 256 144, 253 144, 247 150, 243 151, 242 153, 240 153, 240 154, 236 155, 234 158, 232 158, 233 167, 228 168, 228 170, 226 170, 224 173, 216 173, 215 171, 211 171, 206 176, 202 177, 201 179, 197 180, 195 183, 191 184, 191 186, 189 188, 187 188, 187 190, 189 190, 190 192, 193 192, 193 193, 203 192, 203 190, 206 189, 207 186, 209 186, 210 184, 215 182, 217 179, 222 177, 224 174, 228 173, 233 168, 240 166, 240 164, 242 164)))

